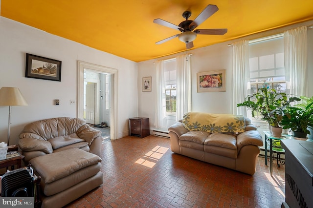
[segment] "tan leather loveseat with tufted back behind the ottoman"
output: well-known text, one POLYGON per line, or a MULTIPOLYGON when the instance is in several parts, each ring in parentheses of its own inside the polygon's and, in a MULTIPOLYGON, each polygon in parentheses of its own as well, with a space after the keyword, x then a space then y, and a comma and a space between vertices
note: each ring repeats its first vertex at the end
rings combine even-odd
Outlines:
POLYGON ((79 118, 36 121, 26 125, 19 137, 19 147, 26 164, 35 157, 70 148, 80 148, 101 156, 101 131, 79 118))

